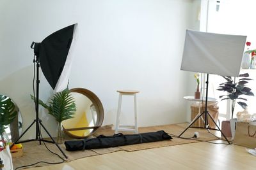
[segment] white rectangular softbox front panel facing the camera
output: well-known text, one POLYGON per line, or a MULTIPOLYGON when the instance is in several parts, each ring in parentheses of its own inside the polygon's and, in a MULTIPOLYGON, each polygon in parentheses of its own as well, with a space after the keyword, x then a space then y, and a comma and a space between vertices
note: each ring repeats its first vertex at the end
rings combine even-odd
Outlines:
POLYGON ((180 69, 239 76, 246 36, 186 31, 180 69))

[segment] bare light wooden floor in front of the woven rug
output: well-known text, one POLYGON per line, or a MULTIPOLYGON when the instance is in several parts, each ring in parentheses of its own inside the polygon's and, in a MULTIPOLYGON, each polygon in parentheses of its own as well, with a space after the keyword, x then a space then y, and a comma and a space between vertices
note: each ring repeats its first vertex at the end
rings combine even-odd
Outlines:
POLYGON ((256 157, 237 145, 206 142, 168 146, 136 152, 114 152, 65 164, 31 168, 51 169, 256 169, 256 157))

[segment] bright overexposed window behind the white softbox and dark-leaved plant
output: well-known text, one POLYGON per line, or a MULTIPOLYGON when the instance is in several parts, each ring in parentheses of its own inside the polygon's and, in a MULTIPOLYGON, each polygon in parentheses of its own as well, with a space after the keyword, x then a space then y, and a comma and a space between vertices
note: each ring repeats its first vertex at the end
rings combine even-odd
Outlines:
MULTIPOLYGON (((236 35, 246 35, 246 41, 252 43, 250 49, 256 48, 256 34, 255 34, 255 5, 256 1, 250 0, 220 0, 220 2, 215 0, 202 0, 202 11, 207 13, 208 9, 208 20, 201 19, 200 29, 207 32, 214 32, 220 34, 236 34, 236 35), (209 7, 207 6, 209 2, 209 7), (218 6, 219 5, 219 6, 218 6), (206 26, 207 25, 207 26, 206 26)), ((203 17, 203 16, 202 16, 203 17)), ((228 55, 228 53, 227 53, 228 55)), ((243 69, 241 73, 249 73, 250 78, 253 78, 254 81, 248 83, 248 87, 252 89, 252 92, 256 92, 256 69, 243 69)), ((220 83, 225 82, 225 79, 218 75, 209 76, 209 97, 215 97, 219 101, 219 113, 221 120, 230 118, 231 109, 230 101, 224 100, 220 101, 219 96, 223 95, 223 92, 220 92, 218 86, 220 83)), ((256 97, 246 96, 246 103, 248 104, 249 113, 256 113, 256 97)), ((234 111, 234 117, 236 117, 237 111, 241 111, 243 108, 236 104, 234 111)))

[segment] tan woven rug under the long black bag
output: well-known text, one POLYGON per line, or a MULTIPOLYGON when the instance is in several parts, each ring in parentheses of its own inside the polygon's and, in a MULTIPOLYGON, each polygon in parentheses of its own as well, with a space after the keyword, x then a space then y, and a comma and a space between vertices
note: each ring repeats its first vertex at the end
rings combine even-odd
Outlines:
MULTIPOLYGON (((156 131, 165 131, 168 134, 172 134, 178 136, 184 129, 187 127, 188 124, 172 124, 172 125, 158 125, 153 127, 140 127, 139 132, 156 132, 156 131)), ((103 134, 105 136, 112 136, 115 131, 112 130, 113 125, 106 125, 103 127, 100 127, 93 136, 99 136, 100 134, 103 134)), ((215 136, 213 136, 211 133, 206 131, 205 129, 195 129, 195 128, 189 128, 182 137, 184 138, 190 138, 193 136, 194 132, 197 131, 200 134, 200 140, 204 141, 210 141, 216 139, 215 136)), ((129 133, 124 133, 129 134, 129 133)), ((183 145, 186 143, 195 143, 200 141, 195 141, 193 139, 182 139, 182 138, 173 138, 170 141, 158 141, 158 142, 152 142, 152 143, 141 143, 136 145, 127 145, 127 146, 118 146, 115 148, 103 148, 103 149, 94 149, 94 150, 84 150, 84 151, 76 151, 76 152, 68 152, 65 150, 65 145, 59 145, 63 152, 68 156, 68 159, 65 159, 66 161, 70 160, 76 160, 81 159, 83 157, 90 157, 95 155, 101 155, 111 152, 117 152, 120 150, 125 150, 127 152, 132 152, 136 150, 145 150, 150 148, 159 148, 164 146, 173 146, 173 145, 183 145)), ((22 157, 14 158, 13 159, 13 166, 20 167, 20 166, 27 166, 29 164, 35 164, 36 162, 44 161, 44 162, 61 162, 61 159, 52 154, 47 150, 51 150, 54 153, 58 153, 61 157, 63 157, 62 153, 56 145, 51 143, 45 143, 47 148, 45 147, 44 143, 42 145, 39 145, 38 141, 33 141, 29 143, 23 143, 24 146, 24 155, 22 157)), ((63 157, 64 158, 64 157, 63 157)), ((49 164, 40 163, 36 164, 36 166, 48 166, 49 164)), ((35 166, 33 166, 35 167, 35 166)))

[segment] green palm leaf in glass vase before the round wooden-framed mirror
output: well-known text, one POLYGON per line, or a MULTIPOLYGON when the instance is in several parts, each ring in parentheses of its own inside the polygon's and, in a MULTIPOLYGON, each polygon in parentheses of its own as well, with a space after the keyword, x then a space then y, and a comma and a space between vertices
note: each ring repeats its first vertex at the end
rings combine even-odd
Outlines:
MULTIPOLYGON (((35 101, 34 96, 31 96, 31 99, 35 101)), ((61 122, 69 118, 73 118, 76 112, 76 104, 74 103, 74 97, 70 94, 70 90, 67 88, 61 92, 57 92, 54 94, 49 104, 44 103, 40 99, 38 100, 38 103, 46 108, 48 113, 58 122, 56 142, 58 144, 63 143, 63 128, 61 126, 61 122)))

